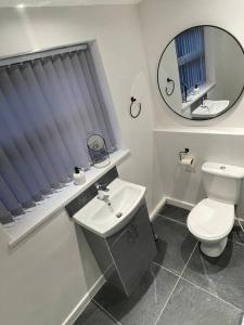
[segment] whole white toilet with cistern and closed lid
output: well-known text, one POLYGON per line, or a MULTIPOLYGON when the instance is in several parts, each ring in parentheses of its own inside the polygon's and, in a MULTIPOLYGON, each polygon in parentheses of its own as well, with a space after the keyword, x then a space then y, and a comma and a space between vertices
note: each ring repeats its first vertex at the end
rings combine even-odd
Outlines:
POLYGON ((205 162, 202 171, 207 198, 191 210, 188 227, 201 242, 201 249, 205 255, 218 257, 223 251, 234 224, 234 209, 244 168, 205 162))

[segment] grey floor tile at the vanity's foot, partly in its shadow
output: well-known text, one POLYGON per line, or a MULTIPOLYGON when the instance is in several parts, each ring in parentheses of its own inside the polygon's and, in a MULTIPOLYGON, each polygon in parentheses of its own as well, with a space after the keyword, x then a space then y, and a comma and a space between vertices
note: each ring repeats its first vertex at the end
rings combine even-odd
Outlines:
POLYGON ((177 280, 152 264, 129 298, 106 283, 94 300, 123 325, 154 325, 177 280))

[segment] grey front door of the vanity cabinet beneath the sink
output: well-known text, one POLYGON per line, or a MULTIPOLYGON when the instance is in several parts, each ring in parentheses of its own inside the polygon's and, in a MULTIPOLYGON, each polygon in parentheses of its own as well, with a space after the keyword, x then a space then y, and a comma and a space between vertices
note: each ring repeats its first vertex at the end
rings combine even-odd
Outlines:
POLYGON ((156 255, 156 245, 145 204, 131 222, 107 240, 123 285, 130 295, 156 255))

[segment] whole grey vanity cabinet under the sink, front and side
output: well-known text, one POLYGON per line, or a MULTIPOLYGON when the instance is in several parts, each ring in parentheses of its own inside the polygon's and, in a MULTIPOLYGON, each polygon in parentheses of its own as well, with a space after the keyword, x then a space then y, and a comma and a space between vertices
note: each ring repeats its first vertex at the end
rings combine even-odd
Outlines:
POLYGON ((106 280, 129 296, 157 252, 145 202, 129 224, 106 239, 84 232, 106 280))

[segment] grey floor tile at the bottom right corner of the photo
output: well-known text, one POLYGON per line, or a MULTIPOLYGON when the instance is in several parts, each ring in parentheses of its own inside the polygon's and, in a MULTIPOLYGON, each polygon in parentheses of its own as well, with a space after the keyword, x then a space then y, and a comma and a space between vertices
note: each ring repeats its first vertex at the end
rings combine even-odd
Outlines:
POLYGON ((157 325, 240 325, 242 312, 180 280, 157 325))

